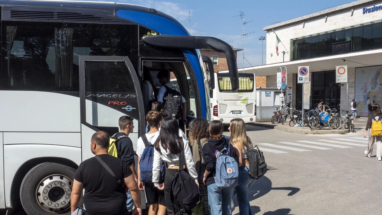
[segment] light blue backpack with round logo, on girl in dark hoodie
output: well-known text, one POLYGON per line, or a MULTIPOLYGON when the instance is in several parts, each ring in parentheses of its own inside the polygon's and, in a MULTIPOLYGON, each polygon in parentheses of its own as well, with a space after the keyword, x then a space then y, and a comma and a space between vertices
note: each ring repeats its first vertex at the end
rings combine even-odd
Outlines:
POLYGON ((236 187, 238 184, 239 166, 235 159, 229 156, 230 143, 228 143, 228 149, 223 148, 225 151, 219 152, 219 157, 216 159, 216 174, 215 183, 219 188, 236 187))

